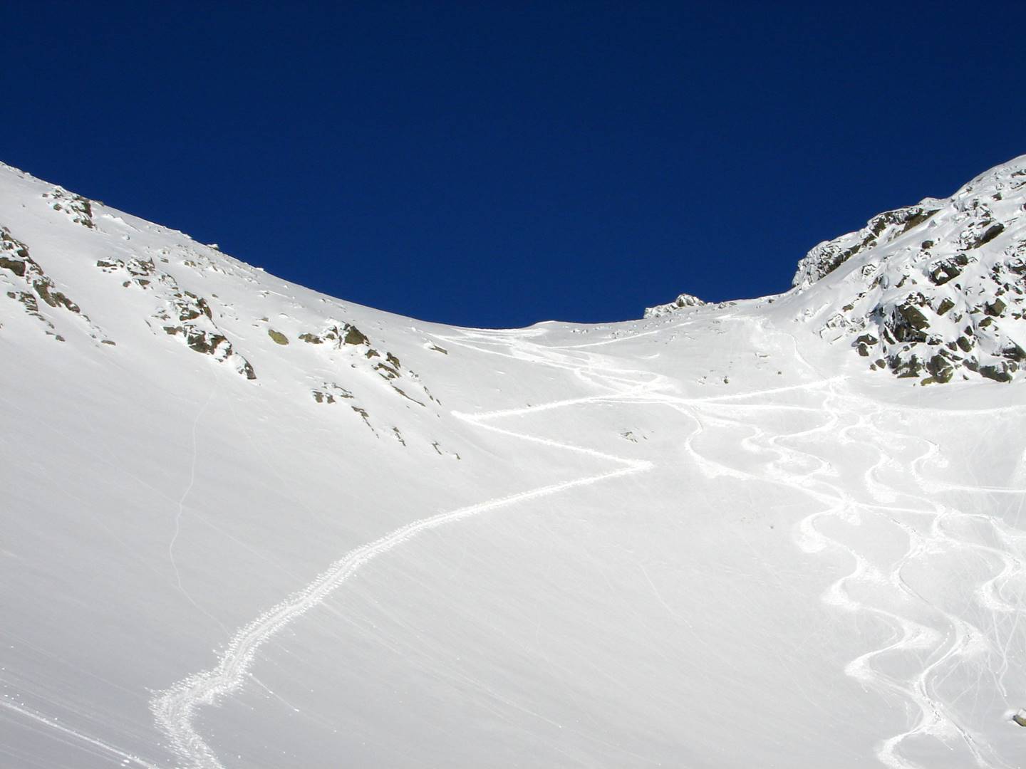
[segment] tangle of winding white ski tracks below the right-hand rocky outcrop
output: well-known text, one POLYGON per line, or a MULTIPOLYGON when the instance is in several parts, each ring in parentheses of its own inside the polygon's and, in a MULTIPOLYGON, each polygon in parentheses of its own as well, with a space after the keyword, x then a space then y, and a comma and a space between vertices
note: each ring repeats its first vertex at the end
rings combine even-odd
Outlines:
MULTIPOLYGON (((813 369, 812 365, 800 354, 796 341, 794 352, 798 360, 813 369)), ((939 447, 925 439, 915 438, 914 440, 926 444, 925 450, 912 460, 909 467, 910 475, 921 492, 913 496, 920 507, 902 508, 894 504, 875 503, 895 502, 900 496, 910 495, 908 491, 892 489, 875 477, 884 464, 897 469, 898 472, 906 470, 905 466, 887 453, 889 446, 900 442, 903 436, 896 432, 881 430, 874 421, 866 419, 861 414, 854 414, 857 416, 857 423, 844 427, 840 431, 841 440, 849 443, 862 443, 878 454, 876 462, 864 475, 865 488, 874 497, 874 502, 856 500, 841 484, 832 481, 832 479, 837 478, 837 473, 827 460, 816 454, 790 448, 783 443, 789 439, 807 437, 818 433, 832 435, 842 419, 852 415, 852 413, 845 414, 836 405, 838 398, 835 386, 840 380, 841 377, 835 377, 822 382, 829 388, 827 399, 823 404, 827 415, 826 421, 799 433, 768 436, 768 440, 766 440, 765 432, 757 426, 718 417, 708 409, 705 413, 700 413, 695 408, 699 405, 695 401, 673 398, 661 398, 660 400, 689 415, 697 422, 699 429, 687 437, 684 447, 699 469, 706 475, 710 477, 729 476, 741 480, 762 480, 783 484, 801 491, 826 505, 798 523, 796 527, 797 544, 808 553, 821 552, 828 548, 840 550, 855 562, 855 567, 852 572, 840 577, 824 591, 822 597, 824 603, 845 611, 874 615, 894 626, 898 634, 896 641, 853 659, 845 665, 844 673, 864 686, 874 687, 881 693, 898 695, 900 699, 912 704, 919 712, 916 723, 882 740, 877 745, 876 758, 879 762, 892 767, 892 769, 922 769, 918 764, 905 759, 900 753, 900 747, 911 737, 928 736, 939 739, 949 751, 953 750, 950 744, 951 740, 960 742, 976 766, 1013 769, 1012 765, 994 755, 992 750, 978 742, 971 730, 961 725, 958 718, 950 712, 951 709, 944 703, 942 697, 936 692, 936 688, 938 683, 943 682, 944 678, 956 670, 959 663, 972 661, 983 654, 989 654, 996 655, 999 660, 996 667, 992 666, 990 670, 995 677, 996 688, 1002 696, 1008 696, 1003 677, 1010 669, 1009 650, 1018 630, 1023 608, 1020 604, 1013 604, 1004 599, 1000 585, 1014 581, 1016 578, 1021 579, 1026 571, 1024 570, 1026 559, 1022 555, 1026 532, 1010 529, 1008 525, 993 516, 965 514, 940 505, 930 499, 929 490, 932 488, 935 491, 960 490, 979 493, 1026 494, 1026 489, 952 484, 933 479, 928 481, 922 475, 921 468, 928 461, 940 462, 939 447), (695 447, 695 439, 705 432, 709 424, 717 423, 747 429, 749 435, 742 438, 740 444, 752 452, 775 452, 778 455, 777 459, 766 466, 763 474, 758 475, 703 456, 695 447), (872 438, 860 440, 851 437, 855 429, 869 431, 872 438), (795 473, 785 469, 789 463, 791 466, 797 463, 799 467, 802 464, 812 466, 812 469, 805 473, 795 473), (907 551, 885 574, 874 567, 857 549, 847 545, 838 538, 823 534, 817 527, 818 521, 830 518, 858 525, 863 513, 884 518, 901 529, 908 537, 907 551), (921 528, 921 525, 917 526, 903 520, 901 518, 903 515, 911 516, 913 519, 924 517, 929 519, 925 530, 921 528), (961 539, 950 534, 945 529, 945 522, 950 519, 983 522, 991 529, 1003 549, 961 539), (1000 639, 1002 633, 996 620, 993 622, 994 626, 991 633, 993 638, 991 638, 979 628, 924 598, 905 580, 902 572, 910 562, 922 556, 952 551, 976 551, 992 562, 996 562, 998 571, 977 588, 975 599, 980 607, 990 612, 1014 615, 1012 628, 1004 634, 1003 643, 1000 639), (882 591, 883 597, 886 598, 901 596, 908 602, 918 604, 919 608, 924 607, 933 612, 946 625, 946 629, 944 633, 941 633, 895 611, 875 606, 868 601, 856 600, 846 589, 849 584, 875 588, 882 591), (889 654, 925 654, 928 661, 912 677, 898 680, 873 666, 874 659, 889 654)), ((754 393, 752 395, 761 394, 754 393)), ((853 394, 845 393, 845 397, 852 396, 853 394)), ((724 401, 726 399, 715 399, 706 405, 729 407, 731 404, 724 401)), ((867 403, 871 403, 876 408, 880 407, 880 404, 876 402, 867 401, 867 403)), ((754 404, 746 404, 746 408, 750 408, 751 405, 754 404)), ((800 409, 802 407, 768 405, 768 408, 800 409)))

